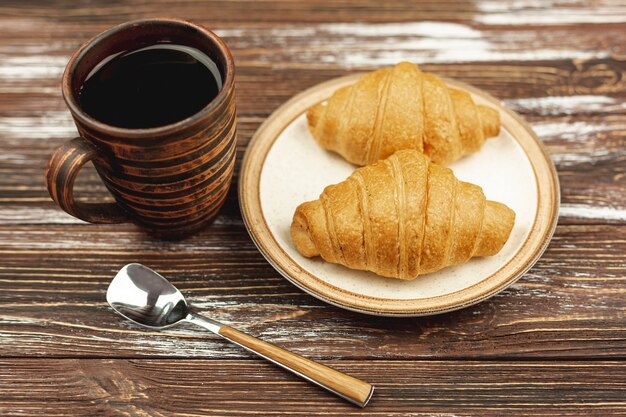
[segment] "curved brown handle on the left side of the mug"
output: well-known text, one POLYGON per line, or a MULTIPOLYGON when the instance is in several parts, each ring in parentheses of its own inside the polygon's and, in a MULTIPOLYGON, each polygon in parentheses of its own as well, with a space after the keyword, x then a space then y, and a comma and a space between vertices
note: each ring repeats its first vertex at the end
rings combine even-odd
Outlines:
POLYGON ((50 197, 68 214, 89 223, 126 223, 115 203, 81 203, 74 200, 74 180, 85 163, 100 157, 98 149, 83 137, 59 146, 48 161, 46 185, 50 197))

